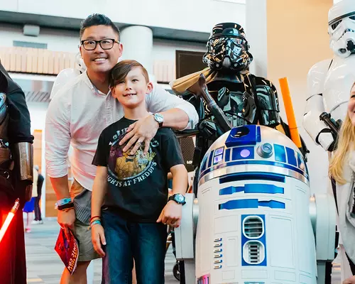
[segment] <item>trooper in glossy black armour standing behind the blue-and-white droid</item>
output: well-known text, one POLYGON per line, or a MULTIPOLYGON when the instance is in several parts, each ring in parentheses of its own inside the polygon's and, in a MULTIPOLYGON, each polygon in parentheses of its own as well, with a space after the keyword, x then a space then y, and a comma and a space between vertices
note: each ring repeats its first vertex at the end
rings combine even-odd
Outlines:
POLYGON ((272 82, 249 72, 252 60, 244 29, 237 23, 219 23, 212 30, 203 57, 209 67, 171 84, 176 94, 195 105, 200 117, 195 165, 200 165, 209 146, 223 133, 204 100, 193 95, 192 85, 201 73, 206 77, 209 94, 229 119, 231 127, 261 124, 276 128, 281 124, 283 127, 278 128, 288 134, 287 125, 280 119, 276 88, 272 82))

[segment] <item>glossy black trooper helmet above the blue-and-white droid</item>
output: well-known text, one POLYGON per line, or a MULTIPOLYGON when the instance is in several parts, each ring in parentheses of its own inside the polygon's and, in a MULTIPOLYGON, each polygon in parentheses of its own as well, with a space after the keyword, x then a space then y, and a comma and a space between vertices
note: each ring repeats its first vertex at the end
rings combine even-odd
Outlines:
POLYGON ((244 28, 238 23, 218 23, 213 27, 207 42, 203 62, 212 70, 248 70, 253 56, 244 28))

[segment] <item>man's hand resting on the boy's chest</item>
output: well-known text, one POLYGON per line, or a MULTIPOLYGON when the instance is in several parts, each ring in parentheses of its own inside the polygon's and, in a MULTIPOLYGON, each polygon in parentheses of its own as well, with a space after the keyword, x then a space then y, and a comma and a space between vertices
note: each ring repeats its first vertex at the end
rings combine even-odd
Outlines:
POLYGON ((129 126, 126 135, 119 141, 119 145, 123 145, 129 140, 126 146, 124 146, 124 152, 126 152, 136 143, 131 149, 131 155, 133 155, 144 142, 144 153, 146 154, 148 153, 151 140, 158 129, 159 124, 155 121, 154 116, 149 115, 144 119, 139 119, 129 126))

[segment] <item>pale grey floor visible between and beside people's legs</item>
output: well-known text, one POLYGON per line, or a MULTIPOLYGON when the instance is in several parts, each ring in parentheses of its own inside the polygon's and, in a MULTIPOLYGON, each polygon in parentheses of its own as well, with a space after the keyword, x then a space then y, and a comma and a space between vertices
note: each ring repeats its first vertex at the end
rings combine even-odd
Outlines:
MULTIPOLYGON (((45 224, 33 225, 31 233, 26 234, 28 284, 59 283, 64 266, 53 249, 58 231, 56 219, 46 219, 45 224)), ((173 276, 174 264, 175 257, 168 251, 165 258, 166 284, 178 284, 173 276)), ((101 260, 94 261, 94 284, 101 283, 101 268, 101 260)), ((332 284, 341 283, 339 271, 340 267, 334 266, 332 284)))

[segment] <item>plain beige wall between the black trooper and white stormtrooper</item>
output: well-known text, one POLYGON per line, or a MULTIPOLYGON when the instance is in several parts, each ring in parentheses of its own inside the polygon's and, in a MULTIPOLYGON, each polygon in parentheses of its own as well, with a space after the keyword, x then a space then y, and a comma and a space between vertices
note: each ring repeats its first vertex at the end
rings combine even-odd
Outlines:
MULTIPOLYGON (((288 77, 300 133, 310 148, 311 191, 327 187, 327 154, 305 133, 302 118, 307 98, 307 72, 320 60, 332 58, 327 16, 332 0, 267 0, 267 72, 278 90, 280 77, 288 77)), ((281 115, 285 118, 279 91, 281 115)))

